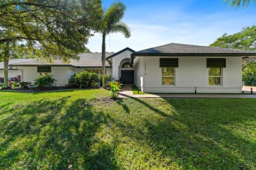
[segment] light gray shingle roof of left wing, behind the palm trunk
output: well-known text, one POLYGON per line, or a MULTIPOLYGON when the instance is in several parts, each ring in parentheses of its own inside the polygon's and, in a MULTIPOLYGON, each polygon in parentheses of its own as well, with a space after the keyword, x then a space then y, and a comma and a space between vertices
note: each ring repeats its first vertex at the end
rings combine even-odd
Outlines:
MULTIPOLYGON (((113 55, 114 53, 106 53, 106 57, 113 55)), ((22 63, 12 63, 12 66, 36 66, 36 65, 58 65, 58 66, 74 66, 74 67, 101 67, 101 53, 83 53, 80 54, 80 59, 70 60, 70 63, 63 63, 60 60, 54 60, 53 63, 45 63, 41 60, 30 60, 22 63)), ((109 63, 106 61, 106 66, 109 67, 109 63)))

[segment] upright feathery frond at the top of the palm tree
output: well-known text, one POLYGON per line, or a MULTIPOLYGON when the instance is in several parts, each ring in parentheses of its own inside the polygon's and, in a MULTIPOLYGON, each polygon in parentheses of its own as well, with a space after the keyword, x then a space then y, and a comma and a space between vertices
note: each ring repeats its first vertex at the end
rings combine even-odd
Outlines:
POLYGON ((124 12, 126 11, 126 6, 122 2, 113 3, 104 15, 104 25, 105 29, 108 30, 111 25, 118 23, 124 17, 124 12))

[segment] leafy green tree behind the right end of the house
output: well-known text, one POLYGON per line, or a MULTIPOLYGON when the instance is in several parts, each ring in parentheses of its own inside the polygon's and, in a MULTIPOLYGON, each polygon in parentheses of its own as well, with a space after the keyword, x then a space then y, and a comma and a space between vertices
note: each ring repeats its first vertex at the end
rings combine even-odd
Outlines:
MULTIPOLYGON (((234 33, 233 35, 227 35, 227 33, 225 33, 213 44, 210 44, 210 46, 256 51, 256 25, 243 28, 241 31, 234 33)), ((256 64, 256 61, 246 60, 243 63, 243 70, 250 63, 256 64)))

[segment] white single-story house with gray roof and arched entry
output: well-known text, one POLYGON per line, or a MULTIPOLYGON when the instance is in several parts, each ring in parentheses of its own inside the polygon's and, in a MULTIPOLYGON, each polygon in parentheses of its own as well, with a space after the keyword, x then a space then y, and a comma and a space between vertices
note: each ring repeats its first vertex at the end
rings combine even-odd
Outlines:
MULTIPOLYGON (((255 52, 175 43, 139 52, 127 47, 106 54, 106 73, 143 92, 190 93, 196 88, 202 93, 241 93, 242 61, 251 58, 256 58, 255 52)), ((58 86, 68 84, 75 72, 101 73, 101 53, 84 53, 70 63, 10 63, 22 72, 22 81, 33 82, 38 73, 50 72, 58 86)))

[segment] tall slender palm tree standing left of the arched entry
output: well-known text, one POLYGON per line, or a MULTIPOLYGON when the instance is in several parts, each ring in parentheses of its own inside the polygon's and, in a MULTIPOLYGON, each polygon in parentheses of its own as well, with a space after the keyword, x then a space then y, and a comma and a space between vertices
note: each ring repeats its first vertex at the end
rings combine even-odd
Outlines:
POLYGON ((121 32, 125 38, 131 36, 128 25, 121 22, 126 6, 122 2, 111 4, 107 11, 102 14, 102 20, 97 32, 102 33, 102 87, 105 87, 105 63, 106 63, 106 36, 110 33, 121 32))

